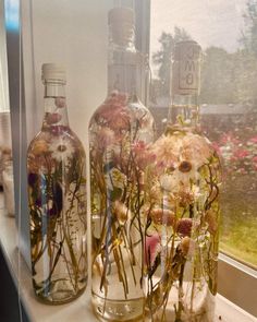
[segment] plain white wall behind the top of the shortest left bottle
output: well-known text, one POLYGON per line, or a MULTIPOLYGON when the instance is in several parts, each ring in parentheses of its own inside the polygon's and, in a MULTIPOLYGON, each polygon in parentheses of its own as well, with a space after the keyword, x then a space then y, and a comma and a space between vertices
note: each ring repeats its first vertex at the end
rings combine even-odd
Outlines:
POLYGON ((44 62, 66 67, 71 128, 86 144, 87 124, 107 88, 108 10, 111 0, 23 1, 23 55, 28 142, 42 117, 44 62), (36 120, 36 121, 35 121, 36 120))

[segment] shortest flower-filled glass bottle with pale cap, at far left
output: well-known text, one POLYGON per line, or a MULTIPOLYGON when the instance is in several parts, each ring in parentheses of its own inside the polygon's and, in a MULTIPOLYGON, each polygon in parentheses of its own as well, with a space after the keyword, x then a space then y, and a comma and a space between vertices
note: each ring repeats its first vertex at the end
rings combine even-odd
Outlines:
POLYGON ((33 287, 44 302, 79 296, 87 285, 86 164, 68 121, 61 65, 42 65, 45 116, 27 152, 33 287))

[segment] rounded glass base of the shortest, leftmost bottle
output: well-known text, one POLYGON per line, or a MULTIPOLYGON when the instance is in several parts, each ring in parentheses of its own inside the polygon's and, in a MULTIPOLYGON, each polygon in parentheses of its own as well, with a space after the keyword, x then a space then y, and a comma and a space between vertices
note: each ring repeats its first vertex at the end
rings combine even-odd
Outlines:
POLYGON ((62 278, 52 281, 51 284, 46 288, 41 285, 37 285, 37 289, 34 288, 35 295, 40 302, 46 305, 56 306, 69 303, 78 298, 87 286, 87 279, 84 281, 85 285, 77 291, 71 285, 69 279, 62 278))

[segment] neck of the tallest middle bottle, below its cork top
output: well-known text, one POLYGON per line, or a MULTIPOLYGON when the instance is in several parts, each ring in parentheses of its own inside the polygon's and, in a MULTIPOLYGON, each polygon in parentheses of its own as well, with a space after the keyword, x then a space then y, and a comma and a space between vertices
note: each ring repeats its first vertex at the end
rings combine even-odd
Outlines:
MULTIPOLYGON (((132 25, 111 25, 108 61, 108 93, 119 91, 128 96, 140 93, 140 64, 143 58, 135 49, 132 25)), ((140 95, 139 95, 140 96, 140 95)))

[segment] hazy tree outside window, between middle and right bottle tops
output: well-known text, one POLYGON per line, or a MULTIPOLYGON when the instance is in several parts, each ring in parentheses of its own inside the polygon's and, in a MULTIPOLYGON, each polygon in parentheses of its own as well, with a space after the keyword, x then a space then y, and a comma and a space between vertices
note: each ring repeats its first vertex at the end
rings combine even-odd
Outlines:
POLYGON ((171 87, 171 58, 178 41, 192 39, 184 28, 174 27, 173 34, 162 32, 159 43, 161 49, 152 55, 152 61, 159 65, 160 94, 169 96, 171 87))

